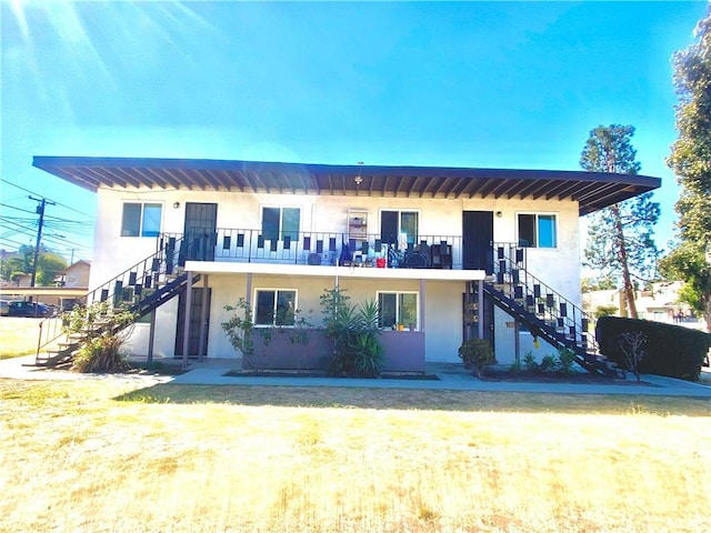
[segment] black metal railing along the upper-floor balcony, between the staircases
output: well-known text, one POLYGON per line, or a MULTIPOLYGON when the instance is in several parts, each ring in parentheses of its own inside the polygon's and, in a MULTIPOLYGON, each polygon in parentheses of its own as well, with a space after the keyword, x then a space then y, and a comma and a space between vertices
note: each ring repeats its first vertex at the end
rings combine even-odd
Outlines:
MULTIPOLYGON (((162 238, 182 238, 163 233, 162 238)), ((337 265, 346 261, 389 266, 461 269, 460 235, 392 235, 368 233, 358 237, 337 232, 282 232, 218 228, 214 232, 193 231, 186 235, 179 253, 184 261, 279 262, 289 264, 337 265)))

